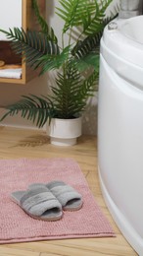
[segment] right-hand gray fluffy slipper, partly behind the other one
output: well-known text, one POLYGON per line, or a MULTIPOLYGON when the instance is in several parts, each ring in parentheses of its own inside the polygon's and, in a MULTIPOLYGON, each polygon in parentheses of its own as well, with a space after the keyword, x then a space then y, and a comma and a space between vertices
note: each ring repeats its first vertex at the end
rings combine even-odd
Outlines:
POLYGON ((77 211, 82 207, 82 196, 70 185, 63 181, 54 180, 47 184, 35 183, 29 187, 46 186, 58 199, 64 211, 77 211))

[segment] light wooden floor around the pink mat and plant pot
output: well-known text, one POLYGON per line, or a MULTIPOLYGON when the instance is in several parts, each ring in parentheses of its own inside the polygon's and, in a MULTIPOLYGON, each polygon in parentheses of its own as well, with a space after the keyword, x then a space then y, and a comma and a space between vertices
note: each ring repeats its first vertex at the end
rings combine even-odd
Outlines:
POLYGON ((117 237, 39 241, 0 245, 0 256, 136 256, 119 232, 101 195, 97 173, 96 138, 81 137, 72 147, 56 147, 41 131, 0 127, 0 159, 73 158, 78 162, 91 191, 112 224, 117 237))

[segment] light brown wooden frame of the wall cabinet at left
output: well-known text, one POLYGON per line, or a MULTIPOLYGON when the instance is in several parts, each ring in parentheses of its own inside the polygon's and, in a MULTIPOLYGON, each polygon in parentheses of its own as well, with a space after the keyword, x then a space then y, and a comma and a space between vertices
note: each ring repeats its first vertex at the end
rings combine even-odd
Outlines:
MULTIPOLYGON (((46 9, 45 0, 38 0, 38 4, 43 17, 45 17, 45 9, 46 9)), ((38 28, 38 25, 36 23, 36 18, 34 16, 34 12, 32 9, 32 0, 22 0, 22 10, 20 10, 20 12, 21 11, 22 11, 22 27, 24 31, 26 31, 27 29, 36 30, 38 28)), ((11 28, 11 25, 10 25, 10 28, 11 28)), ((0 83, 25 85, 28 81, 32 80, 37 75, 38 75, 37 72, 30 69, 22 59, 22 78, 21 79, 0 78, 0 83)))

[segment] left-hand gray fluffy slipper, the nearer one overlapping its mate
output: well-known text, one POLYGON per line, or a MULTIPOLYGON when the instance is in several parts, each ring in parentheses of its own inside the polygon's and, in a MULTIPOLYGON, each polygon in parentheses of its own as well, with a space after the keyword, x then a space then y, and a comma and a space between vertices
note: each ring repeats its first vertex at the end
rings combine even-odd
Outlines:
POLYGON ((11 198, 34 219, 57 221, 63 216, 61 204, 47 187, 38 186, 26 191, 16 191, 11 194, 11 198))

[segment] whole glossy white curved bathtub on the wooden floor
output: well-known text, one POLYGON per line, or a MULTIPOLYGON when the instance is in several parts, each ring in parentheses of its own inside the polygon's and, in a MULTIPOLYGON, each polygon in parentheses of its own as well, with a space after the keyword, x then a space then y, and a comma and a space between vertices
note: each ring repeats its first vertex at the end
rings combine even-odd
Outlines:
POLYGON ((114 22, 101 40, 99 177, 113 218, 142 256, 143 16, 114 22))

